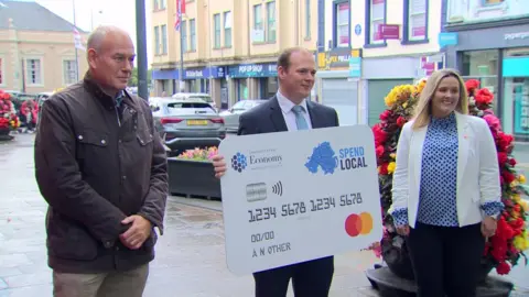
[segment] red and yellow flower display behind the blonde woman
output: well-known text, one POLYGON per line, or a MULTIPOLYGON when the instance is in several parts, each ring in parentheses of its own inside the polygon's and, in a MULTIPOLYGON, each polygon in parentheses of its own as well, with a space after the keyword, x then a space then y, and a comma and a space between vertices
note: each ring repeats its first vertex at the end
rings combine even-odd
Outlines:
MULTIPOLYGON (((388 109, 380 114, 380 122, 373 127, 385 226, 385 235, 380 244, 374 246, 377 256, 380 256, 385 244, 400 246, 395 242, 402 242, 401 237, 395 230, 391 216, 388 215, 392 202, 392 174, 396 167, 395 160, 400 131, 402 125, 411 119, 412 109, 419 100, 424 85, 425 79, 422 79, 417 85, 395 87, 385 98, 388 109)), ((498 219, 496 234, 485 246, 482 263, 495 267, 498 274, 508 274, 511 267, 518 264, 520 257, 526 257, 523 251, 529 249, 529 233, 526 230, 526 215, 529 206, 521 198, 522 195, 528 195, 521 186, 526 183, 526 177, 516 170, 517 162, 512 156, 514 136, 503 132, 501 123, 492 110, 494 95, 486 88, 481 89, 479 81, 475 79, 467 80, 465 87, 468 94, 469 113, 483 118, 488 123, 495 140, 501 201, 505 206, 498 219)))

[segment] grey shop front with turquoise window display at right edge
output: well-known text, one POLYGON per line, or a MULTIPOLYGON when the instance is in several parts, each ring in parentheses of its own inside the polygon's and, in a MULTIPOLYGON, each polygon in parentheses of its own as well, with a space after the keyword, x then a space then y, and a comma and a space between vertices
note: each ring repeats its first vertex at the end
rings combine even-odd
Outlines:
POLYGON ((529 141, 529 26, 518 24, 453 32, 449 66, 477 79, 494 95, 494 112, 506 133, 529 141))

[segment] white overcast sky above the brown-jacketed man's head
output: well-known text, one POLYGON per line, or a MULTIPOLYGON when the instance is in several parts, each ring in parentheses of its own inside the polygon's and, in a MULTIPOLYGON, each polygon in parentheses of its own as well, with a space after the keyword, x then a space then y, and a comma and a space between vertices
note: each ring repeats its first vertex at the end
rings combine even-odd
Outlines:
MULTIPOLYGON (((91 24, 109 24, 122 28, 132 37, 136 46, 136 0, 24 0, 35 1, 39 4, 51 10, 63 19, 74 22, 74 1, 75 1, 75 22, 78 28, 90 31, 91 24)), ((150 59, 152 30, 151 13, 152 1, 145 1, 147 18, 147 58, 150 59)), ((86 43, 86 41, 84 41, 86 43)), ((150 65, 151 63, 148 62, 150 65)), ((150 67, 150 66, 149 66, 150 67)))

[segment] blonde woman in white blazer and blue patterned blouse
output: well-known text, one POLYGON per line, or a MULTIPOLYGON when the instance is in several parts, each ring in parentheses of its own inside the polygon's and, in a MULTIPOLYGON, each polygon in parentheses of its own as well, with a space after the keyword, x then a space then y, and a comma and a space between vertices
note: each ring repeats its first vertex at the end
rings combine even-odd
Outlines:
POLYGON ((435 72, 397 146, 389 212, 406 237, 419 297, 476 296, 485 240, 503 210, 493 135, 467 113, 460 75, 435 72))

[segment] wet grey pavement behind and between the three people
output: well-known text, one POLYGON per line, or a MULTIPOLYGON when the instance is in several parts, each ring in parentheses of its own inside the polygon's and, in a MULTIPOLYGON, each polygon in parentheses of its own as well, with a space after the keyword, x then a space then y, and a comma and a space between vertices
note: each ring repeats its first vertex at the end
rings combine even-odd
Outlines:
MULTIPOLYGON (((238 277, 226 267, 220 210, 219 201, 169 198, 165 233, 156 244, 144 296, 253 296, 251 275, 238 277)), ((0 143, 0 297, 52 296, 45 211, 33 173, 33 135, 0 143)), ((379 262, 369 251, 336 256, 330 296, 378 296, 364 272, 379 262)), ((520 266, 511 279, 529 287, 528 276, 520 266)), ((517 296, 529 296, 529 290, 517 296)))

